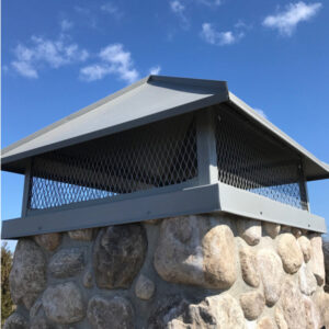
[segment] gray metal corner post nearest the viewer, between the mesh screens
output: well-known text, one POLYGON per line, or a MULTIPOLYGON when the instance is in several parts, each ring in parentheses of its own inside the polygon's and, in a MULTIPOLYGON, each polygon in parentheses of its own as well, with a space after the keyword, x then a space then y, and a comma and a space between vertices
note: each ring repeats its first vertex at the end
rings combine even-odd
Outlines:
POLYGON ((197 113, 196 134, 198 183, 201 185, 217 183, 216 116, 214 107, 197 113))

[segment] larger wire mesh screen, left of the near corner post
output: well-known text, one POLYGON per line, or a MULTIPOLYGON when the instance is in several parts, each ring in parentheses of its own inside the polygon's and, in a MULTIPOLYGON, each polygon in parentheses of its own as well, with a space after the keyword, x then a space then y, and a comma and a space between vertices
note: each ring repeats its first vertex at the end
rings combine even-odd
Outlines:
POLYGON ((35 157, 27 207, 111 198, 195 177, 195 122, 184 115, 35 157))

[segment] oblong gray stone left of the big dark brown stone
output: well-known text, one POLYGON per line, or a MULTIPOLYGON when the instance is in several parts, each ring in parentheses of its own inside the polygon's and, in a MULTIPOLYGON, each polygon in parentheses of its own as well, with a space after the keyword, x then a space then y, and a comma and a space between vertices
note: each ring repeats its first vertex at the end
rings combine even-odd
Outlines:
POLYGON ((48 265, 49 273, 55 277, 73 276, 84 268, 82 248, 61 249, 55 253, 48 265))

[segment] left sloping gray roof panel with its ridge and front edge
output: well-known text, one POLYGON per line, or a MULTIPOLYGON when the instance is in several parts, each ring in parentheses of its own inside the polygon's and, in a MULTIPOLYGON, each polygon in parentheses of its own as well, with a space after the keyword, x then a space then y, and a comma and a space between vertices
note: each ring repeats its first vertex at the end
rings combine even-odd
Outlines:
POLYGON ((226 82, 150 76, 4 148, 10 162, 228 99, 226 82))

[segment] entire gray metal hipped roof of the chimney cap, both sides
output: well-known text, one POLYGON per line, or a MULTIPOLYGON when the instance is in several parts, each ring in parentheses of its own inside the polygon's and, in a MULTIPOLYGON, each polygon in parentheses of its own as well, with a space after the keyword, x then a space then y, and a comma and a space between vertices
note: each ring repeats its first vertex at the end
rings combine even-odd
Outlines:
POLYGON ((149 76, 2 150, 2 170, 24 173, 30 158, 183 113, 227 103, 297 151, 307 180, 329 178, 329 166, 230 93, 225 81, 149 76))

